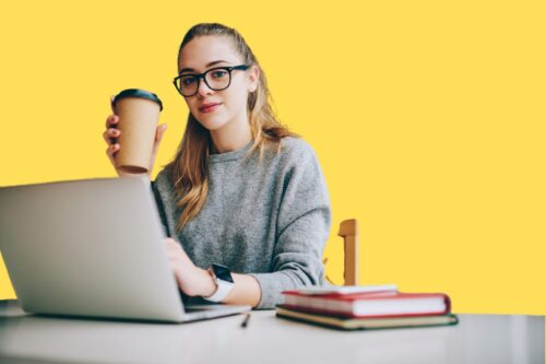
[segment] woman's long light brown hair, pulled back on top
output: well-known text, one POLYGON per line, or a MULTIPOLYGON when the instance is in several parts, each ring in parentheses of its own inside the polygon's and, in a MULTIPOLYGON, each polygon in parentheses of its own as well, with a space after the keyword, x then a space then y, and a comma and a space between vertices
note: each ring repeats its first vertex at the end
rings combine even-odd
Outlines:
MULTIPOLYGON (((285 137, 298 137, 281 125, 275 117, 270 104, 270 92, 265 73, 261 69, 252 50, 247 45, 242 36, 234 28, 218 23, 201 23, 192 26, 186 33, 178 50, 180 60, 182 48, 193 38, 200 36, 226 36, 232 40, 235 50, 242 57, 245 64, 257 66, 260 75, 258 87, 248 94, 247 114, 249 117, 250 131, 253 143, 247 155, 259 151, 260 161, 264 148, 276 145, 277 152, 281 146, 281 139, 285 137)), ((212 146, 210 131, 205 129, 193 117, 191 111, 188 115, 188 122, 182 141, 173 162, 166 167, 170 168, 173 186, 177 193, 177 207, 181 210, 180 219, 177 223, 177 231, 192 220, 204 206, 209 190, 209 155, 212 146)))

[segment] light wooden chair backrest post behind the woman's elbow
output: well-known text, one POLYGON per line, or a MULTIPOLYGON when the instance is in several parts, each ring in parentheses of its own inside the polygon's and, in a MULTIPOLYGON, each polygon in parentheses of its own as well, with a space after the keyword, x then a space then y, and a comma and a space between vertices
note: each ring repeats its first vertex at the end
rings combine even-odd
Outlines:
POLYGON ((343 237, 344 244, 343 284, 358 285, 360 267, 358 263, 358 222, 356 219, 342 221, 337 235, 343 237))

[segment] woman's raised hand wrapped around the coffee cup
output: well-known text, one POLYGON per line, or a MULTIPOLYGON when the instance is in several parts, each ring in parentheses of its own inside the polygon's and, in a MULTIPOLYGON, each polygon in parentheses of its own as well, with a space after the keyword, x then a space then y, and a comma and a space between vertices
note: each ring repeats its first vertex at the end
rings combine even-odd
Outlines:
MULTIPOLYGON (((106 131, 103 133, 103 138, 106 141, 106 144, 108 145, 108 149, 106 150, 106 154, 108 155, 108 158, 110 160, 111 165, 114 168, 116 168, 116 173, 120 177, 124 176, 134 176, 138 174, 133 173, 127 173, 118 169, 117 163, 116 163, 116 155, 119 152, 119 149, 121 145, 118 143, 118 138, 121 134, 121 131, 117 129, 118 122, 119 122, 119 116, 116 115, 116 110, 114 108, 114 96, 110 98, 110 107, 112 110, 112 115, 109 115, 106 118, 106 131)), ((165 130, 167 130, 167 125, 162 124, 157 126, 157 129, 155 131, 155 141, 154 141, 154 149, 152 151, 152 157, 150 160, 150 167, 149 167, 149 176, 152 174, 152 169, 154 168, 155 164, 155 157, 157 156, 157 150, 159 149, 159 143, 162 142, 163 134, 165 133, 165 130)), ((140 174, 141 175, 141 174, 140 174)))

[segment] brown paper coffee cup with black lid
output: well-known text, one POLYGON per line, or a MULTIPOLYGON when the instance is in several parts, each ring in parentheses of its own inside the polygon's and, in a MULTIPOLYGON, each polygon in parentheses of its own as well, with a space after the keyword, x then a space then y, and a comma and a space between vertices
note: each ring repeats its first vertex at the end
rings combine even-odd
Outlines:
POLYGON ((116 95, 112 104, 121 131, 117 168, 128 173, 149 173, 155 131, 163 109, 159 97, 145 90, 128 89, 116 95))

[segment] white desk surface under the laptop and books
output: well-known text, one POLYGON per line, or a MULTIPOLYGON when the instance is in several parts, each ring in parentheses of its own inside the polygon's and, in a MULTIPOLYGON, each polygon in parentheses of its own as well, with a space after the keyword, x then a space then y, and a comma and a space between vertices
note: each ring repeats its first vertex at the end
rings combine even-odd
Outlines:
POLYGON ((191 324, 24 315, 0 302, 1 363, 544 363, 544 316, 459 315, 453 327, 344 332, 273 310, 191 324))

